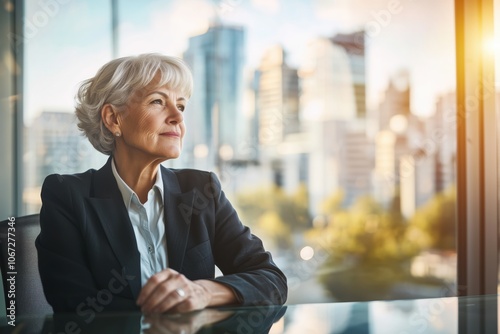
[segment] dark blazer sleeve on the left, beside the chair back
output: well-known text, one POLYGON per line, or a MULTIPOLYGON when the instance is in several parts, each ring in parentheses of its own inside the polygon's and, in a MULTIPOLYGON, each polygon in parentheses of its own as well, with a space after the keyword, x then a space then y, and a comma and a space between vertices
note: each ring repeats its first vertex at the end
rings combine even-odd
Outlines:
POLYGON ((106 298, 101 305, 92 306, 96 298, 109 296, 109 291, 97 286, 89 269, 90 260, 86 256, 84 240, 86 212, 83 186, 79 188, 75 178, 50 175, 42 186, 41 231, 35 245, 45 297, 54 312, 76 311, 86 319, 92 317, 93 309, 137 309, 132 299, 118 295, 113 295, 111 300, 106 298))

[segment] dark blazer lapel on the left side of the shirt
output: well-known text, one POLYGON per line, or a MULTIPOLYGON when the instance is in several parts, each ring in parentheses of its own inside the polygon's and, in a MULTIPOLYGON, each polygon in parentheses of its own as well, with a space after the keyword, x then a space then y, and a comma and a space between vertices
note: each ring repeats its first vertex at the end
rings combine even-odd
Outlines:
POLYGON ((94 174, 93 190, 88 202, 94 208, 123 270, 136 277, 130 282, 130 288, 137 298, 141 289, 140 254, 132 223, 111 171, 111 158, 94 174))

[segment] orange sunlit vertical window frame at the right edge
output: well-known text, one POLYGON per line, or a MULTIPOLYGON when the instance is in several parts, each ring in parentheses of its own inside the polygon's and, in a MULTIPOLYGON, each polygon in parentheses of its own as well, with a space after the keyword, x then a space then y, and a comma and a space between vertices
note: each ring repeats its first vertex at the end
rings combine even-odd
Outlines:
POLYGON ((498 149, 493 0, 456 0, 457 292, 496 294, 498 149), (494 138, 495 140, 491 140, 494 138))

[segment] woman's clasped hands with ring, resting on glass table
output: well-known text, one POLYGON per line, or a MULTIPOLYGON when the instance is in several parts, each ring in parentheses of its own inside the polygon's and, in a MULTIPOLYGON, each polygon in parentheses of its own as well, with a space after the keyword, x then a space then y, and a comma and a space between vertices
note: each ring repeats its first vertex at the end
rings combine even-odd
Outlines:
POLYGON ((144 313, 184 313, 235 302, 229 287, 209 280, 191 281, 173 269, 151 276, 137 298, 144 313))

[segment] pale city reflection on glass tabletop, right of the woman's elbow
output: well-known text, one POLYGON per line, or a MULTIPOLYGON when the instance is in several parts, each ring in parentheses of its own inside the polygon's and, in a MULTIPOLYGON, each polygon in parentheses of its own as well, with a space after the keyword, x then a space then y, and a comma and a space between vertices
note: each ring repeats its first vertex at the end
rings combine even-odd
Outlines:
POLYGON ((458 333, 456 298, 290 307, 271 333, 458 333))

